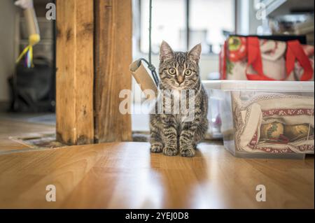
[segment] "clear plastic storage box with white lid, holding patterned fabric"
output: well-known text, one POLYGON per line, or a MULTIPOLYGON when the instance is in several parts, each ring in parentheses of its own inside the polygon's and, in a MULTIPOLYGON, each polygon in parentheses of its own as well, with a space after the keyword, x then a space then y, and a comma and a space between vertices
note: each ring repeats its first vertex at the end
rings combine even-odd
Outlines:
POLYGON ((314 154, 314 82, 222 80, 212 91, 225 148, 235 157, 314 154))

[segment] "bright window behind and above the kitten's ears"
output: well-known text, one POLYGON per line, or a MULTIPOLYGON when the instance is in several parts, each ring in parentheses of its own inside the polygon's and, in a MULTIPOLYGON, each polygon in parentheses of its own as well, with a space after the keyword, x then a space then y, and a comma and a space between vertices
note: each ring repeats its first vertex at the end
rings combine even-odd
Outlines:
MULTIPOLYGON (((139 50, 148 52, 149 0, 139 0, 139 50)), ((152 50, 162 40, 174 50, 202 43, 204 54, 218 53, 226 34, 235 31, 235 0, 153 0, 152 50)))

